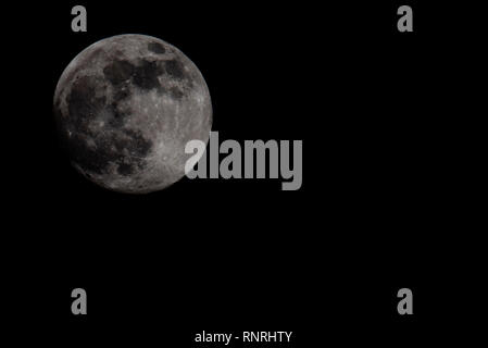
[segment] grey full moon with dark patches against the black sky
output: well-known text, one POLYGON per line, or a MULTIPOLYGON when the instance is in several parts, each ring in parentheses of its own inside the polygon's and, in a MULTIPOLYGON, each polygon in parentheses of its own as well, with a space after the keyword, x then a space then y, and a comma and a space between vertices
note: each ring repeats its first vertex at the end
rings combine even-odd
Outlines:
POLYGON ((82 51, 54 92, 59 133, 77 171, 111 190, 146 194, 185 175, 189 140, 207 142, 209 89, 177 48, 120 35, 82 51))

